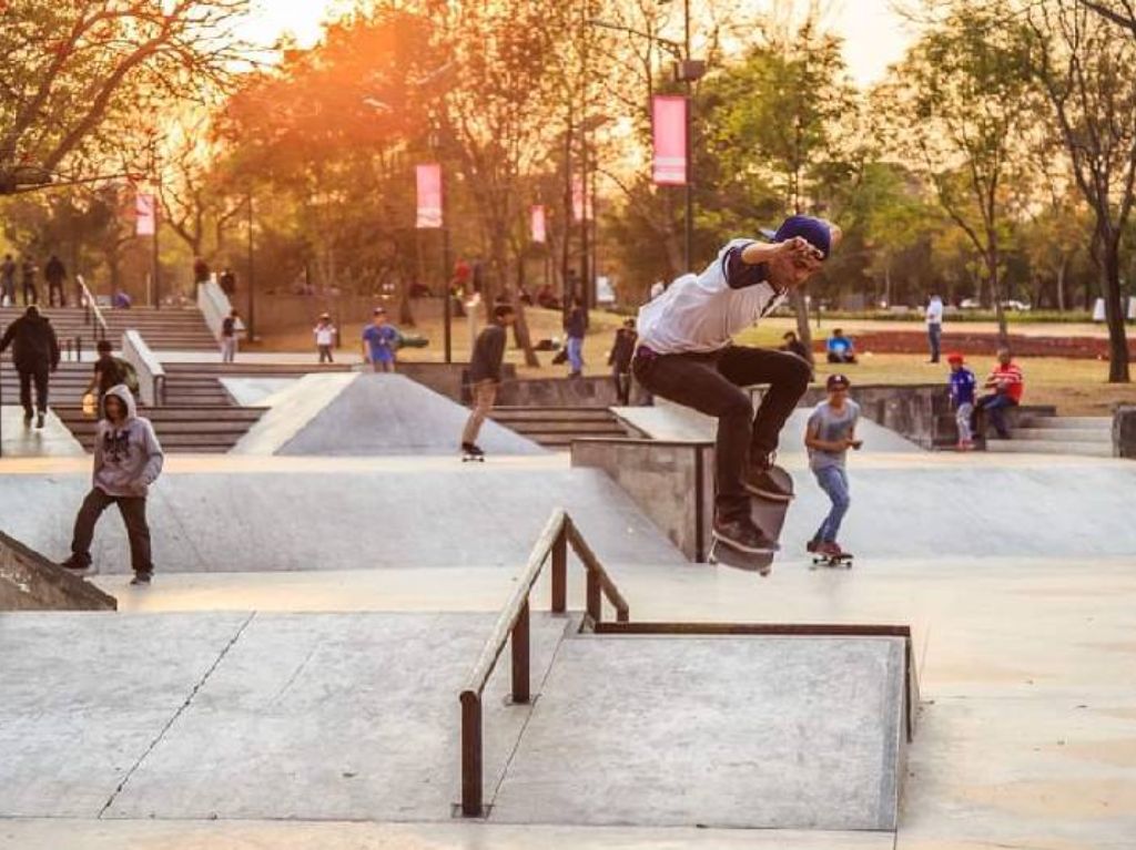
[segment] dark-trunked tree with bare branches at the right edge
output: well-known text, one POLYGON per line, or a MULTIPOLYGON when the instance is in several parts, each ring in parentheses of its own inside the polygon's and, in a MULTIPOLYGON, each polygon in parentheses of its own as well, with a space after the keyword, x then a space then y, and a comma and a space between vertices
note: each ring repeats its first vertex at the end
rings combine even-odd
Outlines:
POLYGON ((1136 40, 1071 0, 1027 8, 1033 70, 1094 217, 1092 255, 1109 326, 1109 381, 1129 380, 1120 250, 1136 202, 1136 40))

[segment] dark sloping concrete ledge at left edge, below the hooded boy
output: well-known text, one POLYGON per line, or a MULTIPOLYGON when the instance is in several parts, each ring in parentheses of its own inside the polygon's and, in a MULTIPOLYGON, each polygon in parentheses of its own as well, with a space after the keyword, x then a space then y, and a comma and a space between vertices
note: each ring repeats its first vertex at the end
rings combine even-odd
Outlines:
POLYGON ((115 597, 0 531, 0 611, 115 611, 115 597))

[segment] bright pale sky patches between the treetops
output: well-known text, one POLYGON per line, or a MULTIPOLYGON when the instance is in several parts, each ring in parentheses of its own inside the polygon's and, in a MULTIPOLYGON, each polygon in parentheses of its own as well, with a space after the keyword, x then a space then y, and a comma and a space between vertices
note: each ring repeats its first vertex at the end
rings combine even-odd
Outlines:
MULTIPOLYGON (((301 47, 319 39, 325 14, 337 0, 252 0, 243 32, 261 44, 291 33, 301 47)), ((862 86, 883 78, 911 41, 892 0, 836 0, 830 3, 833 27, 844 36, 844 56, 853 79, 862 86)))

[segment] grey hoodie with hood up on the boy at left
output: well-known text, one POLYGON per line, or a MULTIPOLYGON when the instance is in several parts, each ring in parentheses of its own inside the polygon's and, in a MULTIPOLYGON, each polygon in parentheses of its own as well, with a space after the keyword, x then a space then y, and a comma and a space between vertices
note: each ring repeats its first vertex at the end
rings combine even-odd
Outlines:
POLYGON ((101 419, 94 438, 94 486, 108 496, 145 496, 161 474, 162 452, 149 419, 137 415, 134 396, 125 385, 107 390, 126 403, 120 426, 101 419))

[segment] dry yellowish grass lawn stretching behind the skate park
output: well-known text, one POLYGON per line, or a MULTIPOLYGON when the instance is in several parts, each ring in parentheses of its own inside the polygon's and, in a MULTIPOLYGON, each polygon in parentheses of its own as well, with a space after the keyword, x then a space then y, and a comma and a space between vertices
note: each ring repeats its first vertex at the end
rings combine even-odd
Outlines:
MULTIPOLYGON (((560 327, 560 313, 551 310, 528 309, 525 311, 528 319, 529 331, 534 340, 544 337, 562 337, 560 327)), ((594 312, 592 325, 587 337, 584 340, 584 371, 586 374, 608 374, 608 351, 615 336, 616 328, 623 321, 623 317, 612 313, 594 312)), ((794 327, 792 319, 767 319, 757 328, 752 328, 737 337, 737 342, 744 345, 759 345, 775 347, 780 345, 782 335, 794 327)), ((910 322, 847 322, 844 329, 853 336, 858 330, 869 329, 903 329, 911 327, 910 322), (861 327, 862 326, 862 327, 861 327), (870 327, 869 327, 870 326, 870 327), (880 327, 877 327, 880 326, 880 327)), ((1039 330, 1045 328, 1052 335, 1083 334, 1078 326, 1027 326, 1030 331, 1035 327, 1039 330)), ((1021 326, 1016 326, 1013 333, 1021 333, 1021 326)), ((993 328, 992 328, 993 329, 993 328)), ((467 360, 469 357, 469 323, 466 319, 456 319, 452 325, 453 330, 453 356, 454 360, 467 360)), ((825 322, 821 334, 827 335, 830 323, 825 322)), ((912 328, 918 333, 918 326, 912 328)), ((344 340, 344 351, 357 352, 359 339, 362 333, 360 322, 349 322, 341 328, 344 340)), ((406 348, 400 353, 400 357, 409 361, 441 361, 442 360, 442 322, 423 321, 412 329, 414 333, 425 335, 429 342, 426 348, 406 348)), ((1027 331, 1029 333, 1029 331, 1027 331)), ((247 351, 283 351, 298 352, 311 350, 315 345, 309 328, 298 329, 287 334, 275 334, 261 340, 258 345, 242 346, 247 351)), ((537 369, 524 367, 521 352, 517 348, 509 348, 507 352, 508 362, 516 363, 518 374, 523 378, 550 378, 561 377, 568 373, 566 365, 551 365, 552 354, 540 352, 542 365, 537 369)), ((994 359, 976 359, 970 363, 979 379, 984 378, 994 364, 994 359)), ((1058 411, 1064 415, 1108 415, 1118 403, 1136 404, 1136 384, 1133 385, 1110 385, 1106 384, 1109 368, 1108 363, 1094 360, 1066 360, 1061 357, 1022 357, 1019 361, 1026 374, 1026 402, 1030 404, 1053 404, 1058 411)), ((818 363, 817 378, 824 381, 825 377, 837 367, 827 363, 818 363)), ((932 384, 946 381, 947 367, 945 363, 933 365, 926 362, 925 355, 916 354, 871 354, 864 353, 861 362, 855 365, 843 367, 842 370, 852 379, 853 384, 932 384)))

